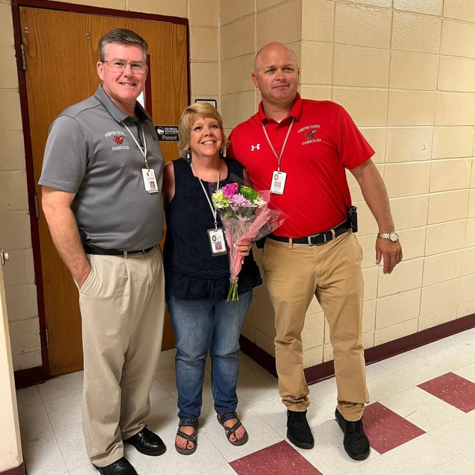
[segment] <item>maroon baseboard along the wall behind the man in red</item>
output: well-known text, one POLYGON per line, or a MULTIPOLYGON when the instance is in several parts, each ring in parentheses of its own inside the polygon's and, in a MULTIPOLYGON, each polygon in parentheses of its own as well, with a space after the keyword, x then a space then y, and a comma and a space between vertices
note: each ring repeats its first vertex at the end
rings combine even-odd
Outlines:
MULTIPOLYGON (((475 313, 368 348, 365 350, 365 361, 367 365, 370 365, 371 363, 376 363, 470 328, 475 328, 475 313)), ((272 355, 265 352, 245 336, 240 336, 239 343, 243 353, 277 377, 276 359, 272 355)), ((308 384, 330 378, 335 374, 333 360, 306 368, 304 373, 308 384)))

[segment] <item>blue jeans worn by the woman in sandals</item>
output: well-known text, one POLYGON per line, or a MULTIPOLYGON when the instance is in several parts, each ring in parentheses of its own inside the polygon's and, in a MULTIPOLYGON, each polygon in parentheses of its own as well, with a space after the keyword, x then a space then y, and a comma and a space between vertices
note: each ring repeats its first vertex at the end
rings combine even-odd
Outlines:
POLYGON ((252 291, 236 302, 169 297, 168 310, 177 337, 175 358, 178 417, 198 419, 201 411, 206 356, 211 357, 211 390, 218 414, 236 411, 239 335, 252 291))

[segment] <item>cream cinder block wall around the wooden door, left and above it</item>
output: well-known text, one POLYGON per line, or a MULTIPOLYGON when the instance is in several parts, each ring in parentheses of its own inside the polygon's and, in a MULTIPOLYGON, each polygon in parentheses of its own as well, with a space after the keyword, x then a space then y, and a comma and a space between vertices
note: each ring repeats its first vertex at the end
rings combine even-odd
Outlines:
MULTIPOLYGON (((78 0, 69 3, 190 20, 191 100, 219 99, 218 0, 78 0)), ((14 370, 41 365, 40 327, 26 188, 26 165, 10 1, 0 0, 0 245, 14 370)), ((58 80, 61 80, 58 74, 58 80)), ((178 153, 178 152, 177 152, 178 153)))

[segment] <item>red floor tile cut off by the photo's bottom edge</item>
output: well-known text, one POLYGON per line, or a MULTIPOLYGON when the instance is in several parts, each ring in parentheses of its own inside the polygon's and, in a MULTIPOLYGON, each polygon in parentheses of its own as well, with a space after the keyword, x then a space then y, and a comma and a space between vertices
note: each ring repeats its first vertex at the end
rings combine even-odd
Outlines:
POLYGON ((285 440, 229 465, 238 475, 322 475, 285 440))

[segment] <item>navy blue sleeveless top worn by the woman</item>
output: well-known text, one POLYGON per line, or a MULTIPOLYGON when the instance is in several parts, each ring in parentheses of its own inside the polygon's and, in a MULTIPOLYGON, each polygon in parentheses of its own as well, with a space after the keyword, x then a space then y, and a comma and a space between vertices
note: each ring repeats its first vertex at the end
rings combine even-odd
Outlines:
MULTIPOLYGON (((225 160, 230 174, 242 178, 242 165, 225 160)), ((211 255, 208 229, 214 228, 214 217, 209 208, 199 179, 191 171, 185 158, 173 160, 175 172, 175 195, 165 208, 167 233, 163 249, 165 267, 165 293, 167 296, 193 300, 224 300, 229 291, 229 256, 211 255)), ((204 188, 211 197, 208 182, 204 188)), ((222 226, 218 215, 218 227, 222 226)), ((238 293, 252 290, 262 284, 259 267, 252 250, 244 258, 238 280, 238 293)))

